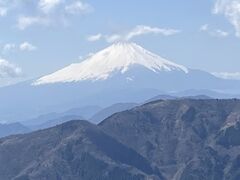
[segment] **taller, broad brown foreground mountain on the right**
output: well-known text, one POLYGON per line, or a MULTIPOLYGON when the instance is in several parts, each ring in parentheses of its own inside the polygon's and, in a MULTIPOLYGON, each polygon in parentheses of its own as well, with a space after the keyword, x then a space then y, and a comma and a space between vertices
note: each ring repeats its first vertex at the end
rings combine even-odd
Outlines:
POLYGON ((100 127, 158 166, 167 179, 238 179, 239 100, 161 100, 100 127))

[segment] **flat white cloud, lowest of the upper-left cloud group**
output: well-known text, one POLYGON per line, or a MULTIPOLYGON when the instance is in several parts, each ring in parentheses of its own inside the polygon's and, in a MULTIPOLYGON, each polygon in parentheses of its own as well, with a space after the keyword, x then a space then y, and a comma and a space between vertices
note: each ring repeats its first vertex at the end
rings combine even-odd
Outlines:
POLYGON ((24 30, 32 25, 48 25, 49 20, 41 17, 20 16, 18 18, 17 27, 24 30))

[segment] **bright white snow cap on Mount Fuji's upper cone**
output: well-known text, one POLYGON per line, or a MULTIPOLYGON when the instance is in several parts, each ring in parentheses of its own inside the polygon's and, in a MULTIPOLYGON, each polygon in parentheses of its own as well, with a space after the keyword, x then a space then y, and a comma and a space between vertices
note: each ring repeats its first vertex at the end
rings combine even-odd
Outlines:
POLYGON ((153 54, 135 43, 116 43, 96 53, 81 63, 71 64, 53 74, 38 79, 34 84, 105 80, 113 72, 124 74, 133 65, 141 65, 155 73, 188 69, 153 54))

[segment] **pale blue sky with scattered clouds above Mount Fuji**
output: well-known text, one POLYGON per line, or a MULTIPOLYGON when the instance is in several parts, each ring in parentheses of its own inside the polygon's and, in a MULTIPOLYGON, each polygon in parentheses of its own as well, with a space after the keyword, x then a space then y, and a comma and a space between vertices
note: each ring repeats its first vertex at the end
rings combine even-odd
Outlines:
POLYGON ((240 0, 0 0, 0 86, 133 41, 189 68, 240 75, 240 0))

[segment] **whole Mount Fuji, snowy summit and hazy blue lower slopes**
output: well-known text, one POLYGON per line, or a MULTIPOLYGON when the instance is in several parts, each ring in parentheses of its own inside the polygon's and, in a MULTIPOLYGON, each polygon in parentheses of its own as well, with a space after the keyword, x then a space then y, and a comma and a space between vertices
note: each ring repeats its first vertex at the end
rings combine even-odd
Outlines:
POLYGON ((21 121, 75 107, 138 103, 189 89, 240 90, 240 81, 187 68, 135 43, 116 43, 52 74, 0 88, 4 102, 0 121, 21 121))

